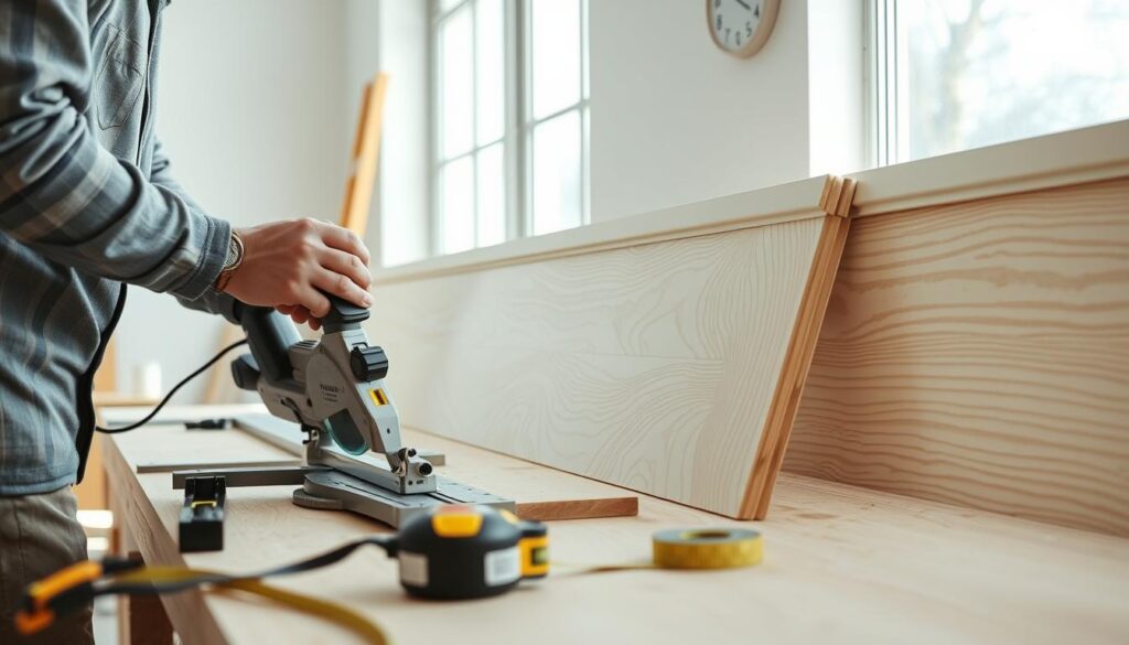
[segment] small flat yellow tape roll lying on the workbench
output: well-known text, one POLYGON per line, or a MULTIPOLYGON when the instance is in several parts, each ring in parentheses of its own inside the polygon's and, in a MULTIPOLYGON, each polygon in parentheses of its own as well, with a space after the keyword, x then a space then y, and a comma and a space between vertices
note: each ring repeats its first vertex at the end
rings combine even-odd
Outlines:
POLYGON ((655 566, 668 569, 749 567, 764 556, 764 540, 747 529, 659 531, 651 539, 655 566))

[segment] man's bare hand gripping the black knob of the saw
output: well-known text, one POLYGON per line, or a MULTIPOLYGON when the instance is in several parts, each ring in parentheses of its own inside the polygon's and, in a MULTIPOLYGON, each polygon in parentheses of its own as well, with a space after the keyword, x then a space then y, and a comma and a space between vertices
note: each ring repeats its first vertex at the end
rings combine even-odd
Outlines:
POLYGON ((243 262, 225 293, 256 306, 275 307, 298 323, 321 326, 330 300, 373 304, 368 249, 352 232, 315 219, 279 221, 237 229, 243 262))

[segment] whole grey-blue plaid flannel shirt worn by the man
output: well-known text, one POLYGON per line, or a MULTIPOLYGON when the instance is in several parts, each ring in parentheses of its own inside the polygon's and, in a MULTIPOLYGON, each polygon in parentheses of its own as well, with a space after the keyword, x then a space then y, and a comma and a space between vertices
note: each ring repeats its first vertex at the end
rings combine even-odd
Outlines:
POLYGON ((0 3, 0 495, 81 479, 125 284, 215 311, 230 227, 154 134, 166 3, 0 3))

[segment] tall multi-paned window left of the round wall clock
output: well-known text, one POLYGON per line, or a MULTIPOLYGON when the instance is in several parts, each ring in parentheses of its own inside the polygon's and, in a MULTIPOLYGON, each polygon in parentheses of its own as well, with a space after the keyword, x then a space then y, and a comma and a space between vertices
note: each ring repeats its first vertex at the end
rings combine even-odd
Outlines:
POLYGON ((435 253, 588 219, 587 0, 432 0, 435 253))

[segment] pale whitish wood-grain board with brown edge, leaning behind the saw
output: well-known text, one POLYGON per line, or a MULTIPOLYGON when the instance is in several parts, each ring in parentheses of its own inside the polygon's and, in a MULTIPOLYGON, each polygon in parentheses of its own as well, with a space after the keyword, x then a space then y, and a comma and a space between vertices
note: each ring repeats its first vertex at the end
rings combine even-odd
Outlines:
POLYGON ((750 211, 718 230, 709 209, 720 207, 704 202, 700 212, 655 216, 699 223, 656 241, 638 241, 641 216, 622 243, 602 232, 630 223, 569 232, 566 241, 585 244, 571 252, 557 244, 549 254, 378 274, 367 330, 388 354, 403 422, 763 517, 854 183, 826 177, 786 190, 805 206, 784 218, 750 211))

